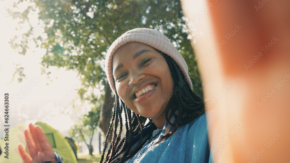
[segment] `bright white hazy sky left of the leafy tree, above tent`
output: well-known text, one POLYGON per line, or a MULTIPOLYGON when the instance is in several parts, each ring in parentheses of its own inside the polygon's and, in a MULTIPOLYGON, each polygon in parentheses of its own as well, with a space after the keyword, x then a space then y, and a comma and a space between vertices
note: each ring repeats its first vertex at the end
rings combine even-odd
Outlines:
MULTIPOLYGON (((27 25, 17 31, 17 21, 5 12, 7 8, 17 8, 24 10, 28 3, 24 1, 19 6, 15 6, 13 1, 0 1, 0 105, 4 106, 5 94, 9 94, 9 120, 10 129, 25 121, 46 122, 66 136, 68 130, 91 107, 86 103, 81 103, 76 90, 80 87, 80 80, 77 72, 68 71, 64 68, 50 67, 51 72, 48 80, 46 74, 41 75, 41 57, 45 50, 35 48, 33 42, 29 43, 26 55, 20 55, 10 47, 8 43, 14 35, 21 35, 29 28, 27 25), (16 66, 24 67, 26 78, 21 83, 12 74, 16 66), (65 97, 72 97, 70 100, 65 97), (73 108, 75 99, 76 109, 73 108)), ((13 9, 13 10, 14 10, 13 9)), ((16 10, 16 9, 15 9, 16 10)), ((31 22, 39 25, 37 16, 32 15, 31 22)), ((42 33, 41 28, 37 31, 42 33)), ((3 108, 3 107, 2 107, 3 108)), ((4 110, 0 112, 0 138, 4 134, 4 110)))

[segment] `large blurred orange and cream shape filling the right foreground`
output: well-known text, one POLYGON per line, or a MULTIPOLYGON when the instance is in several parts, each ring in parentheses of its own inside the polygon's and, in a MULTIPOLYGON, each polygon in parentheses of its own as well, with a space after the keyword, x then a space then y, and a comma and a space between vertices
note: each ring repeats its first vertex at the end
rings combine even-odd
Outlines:
POLYGON ((290 1, 185 0, 215 162, 290 162, 290 1), (214 132, 214 126, 217 126, 214 132))

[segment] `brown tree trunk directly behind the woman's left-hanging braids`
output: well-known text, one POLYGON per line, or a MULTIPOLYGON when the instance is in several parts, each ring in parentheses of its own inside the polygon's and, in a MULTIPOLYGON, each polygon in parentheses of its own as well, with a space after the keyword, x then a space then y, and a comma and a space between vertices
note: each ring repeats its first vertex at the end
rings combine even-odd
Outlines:
MULTIPOLYGON (((114 107, 114 102, 115 102, 115 100, 114 100, 114 98, 112 98, 111 94, 112 94, 112 90, 110 88, 110 85, 109 85, 109 83, 106 83, 104 102, 103 102, 102 107, 101 107, 100 119, 98 122, 98 126, 104 132, 105 138, 106 138, 106 134, 108 132, 108 129, 110 127, 111 113, 112 113, 112 108, 114 107)), ((112 135, 109 136, 108 143, 111 142, 111 137, 112 137, 112 135)))

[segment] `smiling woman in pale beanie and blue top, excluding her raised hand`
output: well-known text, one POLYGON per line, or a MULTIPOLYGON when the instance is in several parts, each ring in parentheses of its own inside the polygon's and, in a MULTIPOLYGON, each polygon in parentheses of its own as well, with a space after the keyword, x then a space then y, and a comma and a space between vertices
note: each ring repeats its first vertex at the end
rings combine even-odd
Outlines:
POLYGON ((124 33, 110 46, 105 66, 115 105, 100 162, 211 162, 204 103, 165 35, 146 28, 124 33))

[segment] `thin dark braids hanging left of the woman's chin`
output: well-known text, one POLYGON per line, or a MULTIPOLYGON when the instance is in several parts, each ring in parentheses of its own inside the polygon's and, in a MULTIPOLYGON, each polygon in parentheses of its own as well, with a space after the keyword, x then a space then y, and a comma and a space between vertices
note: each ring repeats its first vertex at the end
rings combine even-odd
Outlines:
POLYGON ((133 155, 135 155, 142 148, 142 146, 146 143, 146 141, 152 137, 152 136, 148 136, 146 140, 142 142, 142 138, 144 138, 144 136, 147 136, 147 135, 143 135, 143 129, 145 129, 149 125, 152 125, 153 127, 151 128, 149 135, 152 135, 153 130, 157 129, 157 127, 154 125, 152 120, 149 120, 149 123, 145 125, 145 122, 148 118, 139 116, 138 114, 132 112, 124 104, 124 102, 121 99, 119 99, 119 96, 116 91, 115 91, 115 94, 116 96, 115 96, 112 122, 110 124, 110 127, 106 135, 106 140, 105 140, 100 162, 103 162, 104 160, 105 150, 108 145, 108 137, 111 133, 112 133, 112 140, 111 140, 108 153, 104 162, 125 162, 126 160, 131 158, 133 155), (122 133, 122 128, 123 128, 122 112, 124 112, 125 114, 126 131, 125 131, 124 136, 121 138, 121 133, 122 133), (114 129, 112 129, 113 124, 114 124, 114 129), (120 127, 119 127, 119 133, 117 134, 118 125, 120 127), (141 132, 140 140, 137 146, 133 150, 130 151, 133 145, 132 144, 133 137, 137 135, 139 132, 141 132))

